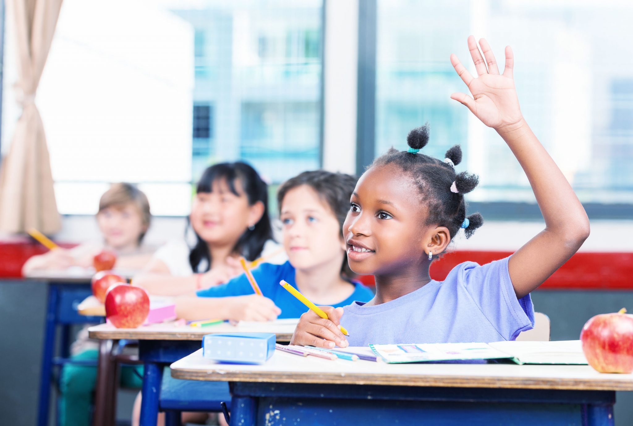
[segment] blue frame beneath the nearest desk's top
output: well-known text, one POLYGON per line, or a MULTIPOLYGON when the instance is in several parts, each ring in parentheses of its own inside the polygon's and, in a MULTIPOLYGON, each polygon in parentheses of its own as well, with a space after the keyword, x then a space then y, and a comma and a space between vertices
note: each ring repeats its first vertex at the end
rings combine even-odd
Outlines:
POLYGON ((615 391, 230 382, 232 426, 613 426, 615 391))

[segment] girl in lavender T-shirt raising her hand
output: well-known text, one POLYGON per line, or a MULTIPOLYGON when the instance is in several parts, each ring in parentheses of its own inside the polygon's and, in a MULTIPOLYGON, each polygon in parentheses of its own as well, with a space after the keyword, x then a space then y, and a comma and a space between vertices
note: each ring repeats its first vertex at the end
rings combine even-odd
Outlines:
POLYGON ((503 75, 484 39, 480 47, 485 61, 472 36, 468 47, 479 78, 473 78, 454 55, 451 63, 474 99, 463 93, 451 97, 508 144, 532 185, 546 228, 509 258, 482 266, 461 263, 443 282, 432 280, 431 262, 444 253, 458 230, 470 237, 482 218, 466 215, 463 195, 478 179, 454 172, 460 148, 449 149, 443 161, 420 154, 429 140, 429 127, 417 128, 409 134, 408 151, 389 150, 358 180, 343 225, 349 266, 360 275, 375 275, 375 298, 344 308, 323 307, 327 320, 304 313, 292 344, 334 348, 513 340, 532 329, 530 292, 589 235, 582 204, 523 119, 510 47, 503 75), (341 323, 349 330, 347 338, 337 327, 341 323))

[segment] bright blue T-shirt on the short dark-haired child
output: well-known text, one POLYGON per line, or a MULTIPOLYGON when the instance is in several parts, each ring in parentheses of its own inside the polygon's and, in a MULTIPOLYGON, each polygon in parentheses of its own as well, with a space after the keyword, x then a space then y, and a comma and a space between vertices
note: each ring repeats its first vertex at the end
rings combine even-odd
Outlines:
MULTIPOLYGON (((301 303, 297 298, 292 296, 284 287, 279 285, 280 280, 285 280, 292 287, 297 288, 297 283, 294 280, 294 267, 289 261, 283 265, 273 265, 272 263, 262 263, 258 268, 253 271, 253 277, 257 284, 260 286, 260 290, 266 298, 271 299, 280 309, 281 314, 279 318, 299 318, 301 314, 305 313, 308 308, 301 303)), ((360 284, 360 282, 353 281, 354 292, 349 295, 345 300, 339 303, 326 303, 329 306, 338 308, 339 306, 347 306, 358 302, 368 302, 373 298, 373 292, 360 284)), ((253 288, 246 278, 246 275, 242 274, 237 278, 234 278, 226 284, 216 285, 210 289, 200 290, 197 296, 201 298, 224 298, 228 296, 245 296, 247 294, 253 294, 253 288)), ((312 301, 314 304, 322 305, 318 300, 312 301)))

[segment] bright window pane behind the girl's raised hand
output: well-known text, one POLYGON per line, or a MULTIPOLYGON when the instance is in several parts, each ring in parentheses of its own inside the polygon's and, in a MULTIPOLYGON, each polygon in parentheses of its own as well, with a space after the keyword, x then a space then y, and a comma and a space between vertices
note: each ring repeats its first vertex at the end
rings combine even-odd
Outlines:
POLYGON ((461 144, 457 170, 479 173, 470 201, 536 201, 503 140, 449 98, 468 92, 449 54, 476 75, 473 34, 502 65, 513 47, 523 115, 580 201, 633 204, 633 58, 611 42, 633 36, 628 4, 377 0, 376 16, 376 155, 405 149, 408 131, 429 121, 425 153, 461 144))

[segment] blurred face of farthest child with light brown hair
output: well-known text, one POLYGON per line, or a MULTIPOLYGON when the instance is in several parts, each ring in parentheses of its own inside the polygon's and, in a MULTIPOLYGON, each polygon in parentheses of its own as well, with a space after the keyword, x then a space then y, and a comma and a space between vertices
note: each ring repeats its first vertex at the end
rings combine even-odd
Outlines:
POLYGON ((147 230, 134 203, 104 208, 97 213, 97 224, 106 245, 115 250, 137 247, 139 237, 147 230))

